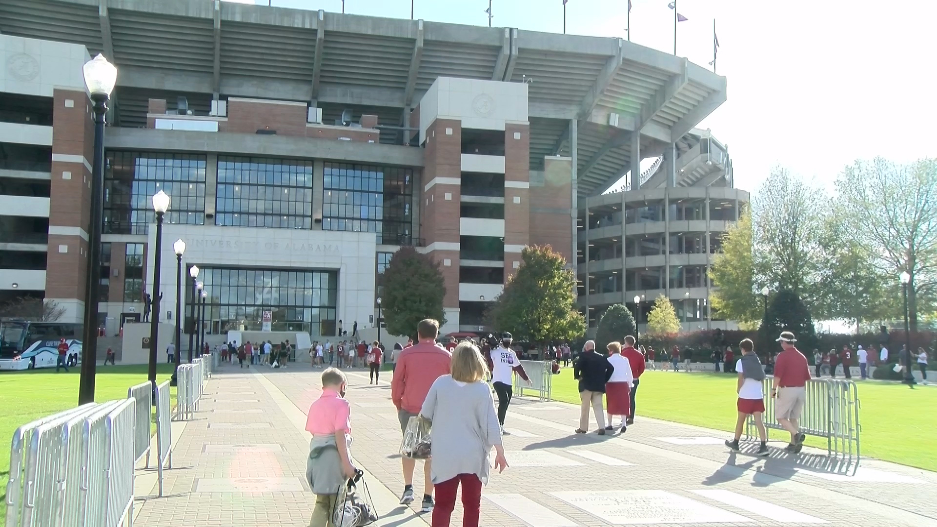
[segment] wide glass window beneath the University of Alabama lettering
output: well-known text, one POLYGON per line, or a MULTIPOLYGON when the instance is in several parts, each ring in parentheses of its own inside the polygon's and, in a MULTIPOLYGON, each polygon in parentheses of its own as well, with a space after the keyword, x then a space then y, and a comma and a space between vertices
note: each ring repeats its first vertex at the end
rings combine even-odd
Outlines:
MULTIPOLYGON (((274 331, 305 331, 334 336, 338 297, 336 271, 205 268, 199 274, 208 296, 210 330, 260 331, 263 311, 271 311, 274 331)), ((186 305, 191 306, 191 288, 186 305)), ((186 307, 189 312, 190 307, 186 307)), ((206 324, 206 327, 209 327, 206 324)))

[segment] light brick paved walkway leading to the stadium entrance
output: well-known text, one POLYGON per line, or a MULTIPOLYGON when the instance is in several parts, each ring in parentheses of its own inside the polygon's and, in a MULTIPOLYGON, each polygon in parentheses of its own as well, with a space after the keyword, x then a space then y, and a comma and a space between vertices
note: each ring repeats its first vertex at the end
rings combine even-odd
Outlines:
MULTIPOLYGON (((175 447, 169 497, 138 499, 138 524, 306 525, 314 497, 303 428, 319 375, 299 365, 222 367, 175 447)), ((352 455, 368 473, 379 525, 426 525, 418 502, 396 502, 400 432, 390 374, 381 375, 369 385, 366 372, 350 372, 352 455)), ((778 448, 767 459, 731 455, 716 430, 639 415, 624 436, 602 437, 573 434, 577 420, 573 405, 514 399, 512 466, 484 489, 482 525, 937 525, 935 473, 868 459, 849 476, 806 450, 797 460, 778 448)))

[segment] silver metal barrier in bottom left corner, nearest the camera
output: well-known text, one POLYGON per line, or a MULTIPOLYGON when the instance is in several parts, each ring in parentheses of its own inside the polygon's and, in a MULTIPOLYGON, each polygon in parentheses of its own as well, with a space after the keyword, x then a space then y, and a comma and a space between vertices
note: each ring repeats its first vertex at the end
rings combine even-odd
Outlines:
POLYGON ((7 527, 129 524, 135 405, 135 399, 85 404, 17 429, 7 527))

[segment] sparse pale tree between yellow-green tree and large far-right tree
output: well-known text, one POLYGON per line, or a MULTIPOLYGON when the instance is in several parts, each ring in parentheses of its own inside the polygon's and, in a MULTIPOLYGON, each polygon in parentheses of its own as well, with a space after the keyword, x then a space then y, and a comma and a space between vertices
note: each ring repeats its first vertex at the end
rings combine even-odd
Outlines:
POLYGON ((755 282, 789 289, 810 306, 823 267, 824 192, 775 167, 752 205, 755 282))

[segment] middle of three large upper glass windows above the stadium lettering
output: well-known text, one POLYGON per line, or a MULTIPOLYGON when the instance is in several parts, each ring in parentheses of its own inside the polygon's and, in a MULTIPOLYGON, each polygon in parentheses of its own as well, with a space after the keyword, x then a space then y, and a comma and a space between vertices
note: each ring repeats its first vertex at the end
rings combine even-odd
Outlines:
POLYGON ((312 161, 218 156, 215 224, 312 228, 312 161))

